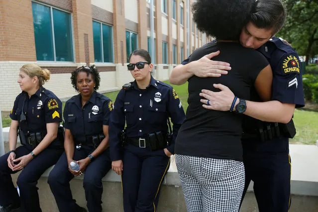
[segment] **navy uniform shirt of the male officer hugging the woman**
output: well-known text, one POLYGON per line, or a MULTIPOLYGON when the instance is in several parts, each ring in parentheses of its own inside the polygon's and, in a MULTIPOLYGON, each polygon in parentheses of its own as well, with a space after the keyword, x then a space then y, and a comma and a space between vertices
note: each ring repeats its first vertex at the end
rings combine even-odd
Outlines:
MULTIPOLYGON (((296 108, 305 106, 300 60, 295 49, 273 37, 257 50, 266 57, 272 67, 272 100, 295 104, 296 108)), ((251 90, 251 98, 252 101, 260 102, 255 89, 251 90)), ((244 132, 255 131, 255 126, 259 123, 259 120, 246 116, 243 121, 244 132)), ((288 138, 281 136, 266 142, 251 142, 249 139, 242 141, 244 149, 254 153, 289 151, 288 138)))

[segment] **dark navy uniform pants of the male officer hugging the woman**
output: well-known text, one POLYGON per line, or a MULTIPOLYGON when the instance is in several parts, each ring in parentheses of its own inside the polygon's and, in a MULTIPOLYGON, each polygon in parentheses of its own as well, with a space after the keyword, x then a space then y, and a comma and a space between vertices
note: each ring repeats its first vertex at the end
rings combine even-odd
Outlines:
MULTIPOLYGON (((243 154, 245 188, 254 182, 259 212, 288 212, 291 203, 291 160, 287 152, 243 154)), ((242 200, 243 200, 242 198, 242 200)))

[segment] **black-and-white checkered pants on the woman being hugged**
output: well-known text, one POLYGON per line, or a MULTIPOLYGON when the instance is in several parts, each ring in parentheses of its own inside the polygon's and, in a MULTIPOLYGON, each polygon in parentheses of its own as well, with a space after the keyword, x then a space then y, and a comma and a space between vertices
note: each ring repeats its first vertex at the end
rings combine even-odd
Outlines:
POLYGON ((235 160, 176 154, 188 212, 238 212, 244 165, 235 160))

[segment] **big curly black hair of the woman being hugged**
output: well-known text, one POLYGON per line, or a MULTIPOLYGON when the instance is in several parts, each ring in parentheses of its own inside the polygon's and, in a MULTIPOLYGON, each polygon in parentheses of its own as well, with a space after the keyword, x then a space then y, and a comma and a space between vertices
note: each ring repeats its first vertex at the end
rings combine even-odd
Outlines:
POLYGON ((196 0, 193 20, 200 31, 216 40, 239 40, 255 0, 196 0))

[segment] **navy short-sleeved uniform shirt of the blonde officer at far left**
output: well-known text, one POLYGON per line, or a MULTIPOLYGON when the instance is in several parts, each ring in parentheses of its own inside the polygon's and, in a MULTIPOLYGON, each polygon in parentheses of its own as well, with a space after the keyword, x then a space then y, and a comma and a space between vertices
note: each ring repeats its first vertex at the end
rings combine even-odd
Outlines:
POLYGON ((30 98, 27 92, 23 91, 14 101, 10 118, 19 122, 19 127, 25 135, 46 132, 47 123, 62 121, 62 102, 43 87, 40 87, 30 98), (26 121, 20 123, 22 112, 25 114, 26 121))

